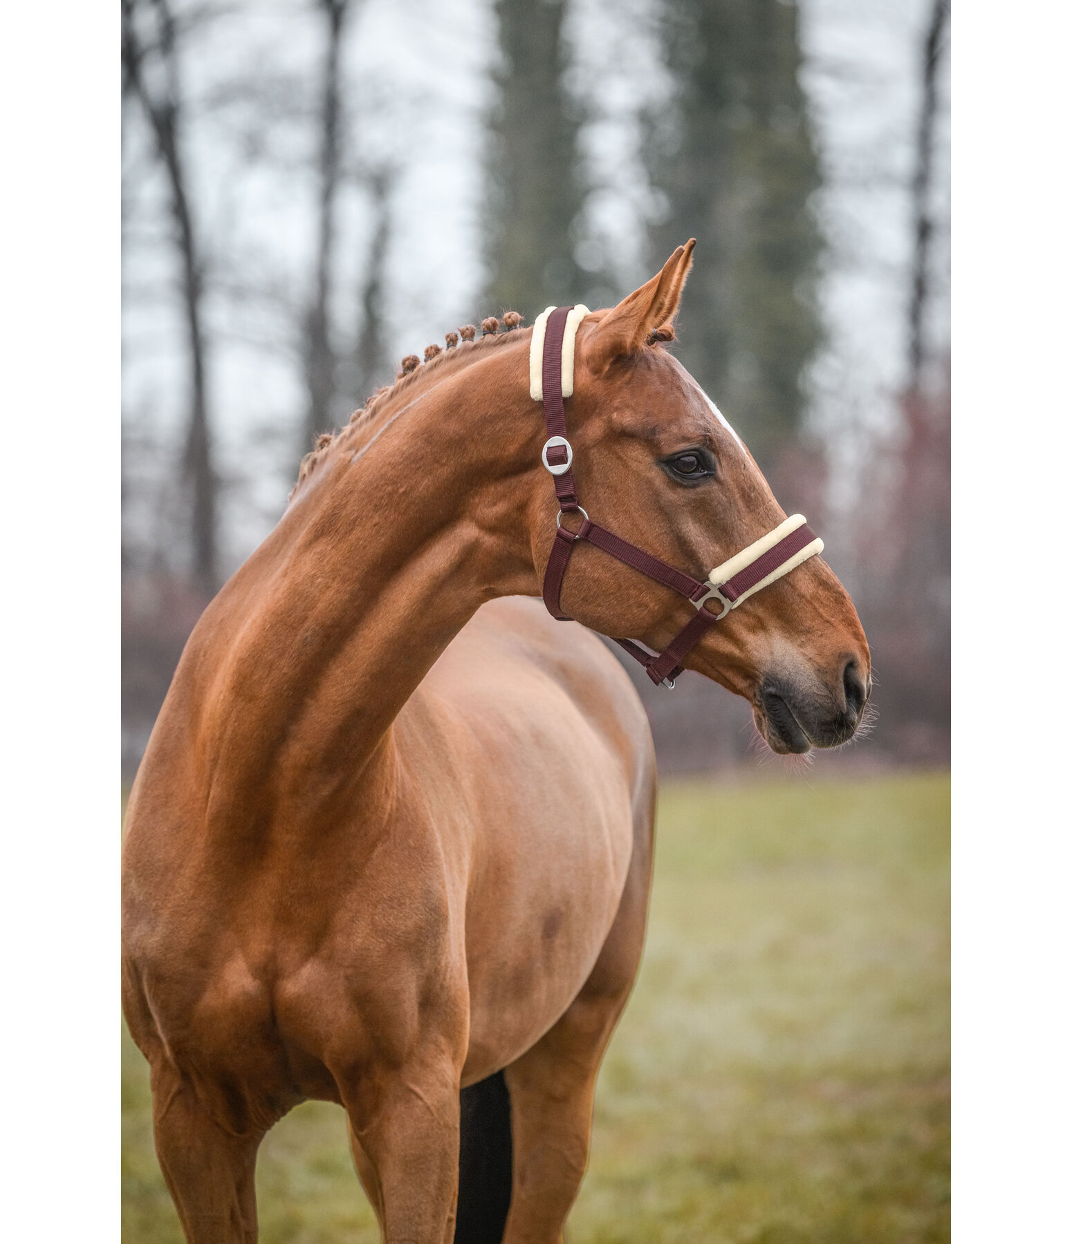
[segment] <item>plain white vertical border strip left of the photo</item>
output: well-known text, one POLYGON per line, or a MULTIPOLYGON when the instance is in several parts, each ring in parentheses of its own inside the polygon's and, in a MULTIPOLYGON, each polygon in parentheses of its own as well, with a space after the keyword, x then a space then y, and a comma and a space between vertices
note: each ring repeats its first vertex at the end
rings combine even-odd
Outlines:
POLYGON ((0 17, 5 1234, 120 1238, 120 5, 0 17))

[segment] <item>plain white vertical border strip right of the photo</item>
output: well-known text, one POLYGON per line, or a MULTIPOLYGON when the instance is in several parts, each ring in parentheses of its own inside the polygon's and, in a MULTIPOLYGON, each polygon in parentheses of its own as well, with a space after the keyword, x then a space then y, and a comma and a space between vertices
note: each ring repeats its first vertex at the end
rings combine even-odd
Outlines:
POLYGON ((1072 1161, 1072 10, 951 46, 954 1240, 1007 1244, 1067 1234, 1072 1161))

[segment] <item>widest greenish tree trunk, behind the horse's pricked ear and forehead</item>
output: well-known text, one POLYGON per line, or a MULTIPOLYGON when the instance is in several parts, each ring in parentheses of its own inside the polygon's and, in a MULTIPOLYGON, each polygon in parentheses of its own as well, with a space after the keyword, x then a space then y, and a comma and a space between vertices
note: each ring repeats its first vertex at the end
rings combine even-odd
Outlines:
POLYGON ((651 264, 697 239, 680 357, 768 466, 799 427, 803 372, 822 337, 808 205, 820 178, 797 9, 664 0, 662 35, 675 106, 649 124, 649 175, 666 198, 651 264))

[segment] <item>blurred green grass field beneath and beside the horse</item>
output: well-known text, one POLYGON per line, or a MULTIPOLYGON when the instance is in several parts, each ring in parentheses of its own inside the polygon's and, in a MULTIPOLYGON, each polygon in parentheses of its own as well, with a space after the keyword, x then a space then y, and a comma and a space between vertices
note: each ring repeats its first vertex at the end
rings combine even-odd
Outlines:
MULTIPOLYGON (((569 1244, 949 1239, 949 776, 667 784, 569 1244)), ((375 1244, 342 1112, 260 1152, 266 1244, 375 1244)), ((181 1244, 123 1034, 123 1239, 181 1244)))

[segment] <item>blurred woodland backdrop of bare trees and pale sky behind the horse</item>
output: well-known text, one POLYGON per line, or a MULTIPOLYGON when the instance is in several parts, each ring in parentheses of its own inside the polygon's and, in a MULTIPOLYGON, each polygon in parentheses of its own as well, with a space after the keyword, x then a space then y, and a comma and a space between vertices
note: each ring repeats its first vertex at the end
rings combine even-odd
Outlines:
MULTIPOLYGON (((676 347, 949 756, 947 0, 123 0, 123 769, 315 435, 483 316, 697 238, 676 347)), ((634 671, 630 671, 634 673, 634 671)), ((637 685, 664 771, 748 707, 637 685)), ((853 754, 850 754, 853 755, 853 754)))

